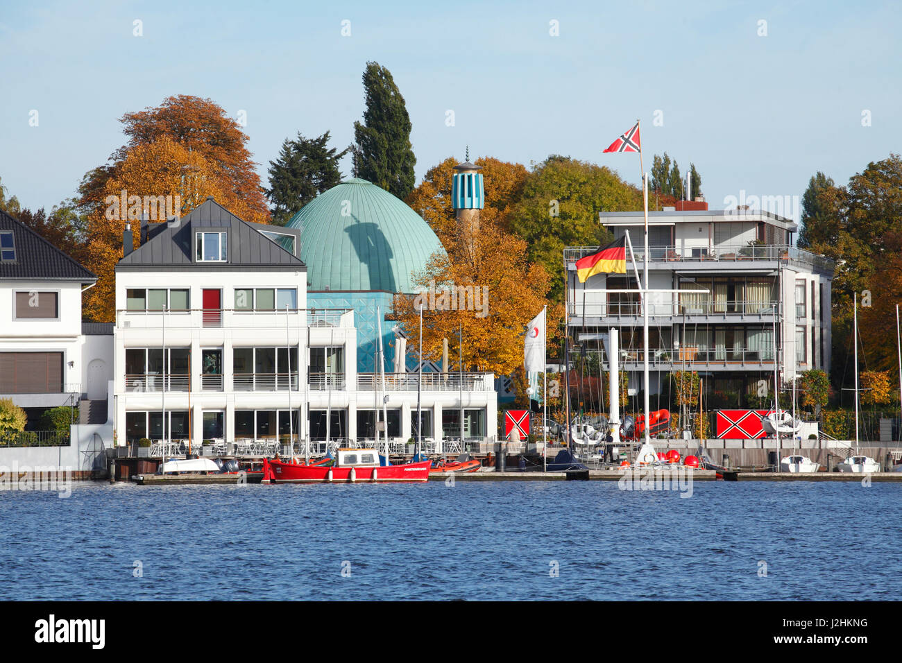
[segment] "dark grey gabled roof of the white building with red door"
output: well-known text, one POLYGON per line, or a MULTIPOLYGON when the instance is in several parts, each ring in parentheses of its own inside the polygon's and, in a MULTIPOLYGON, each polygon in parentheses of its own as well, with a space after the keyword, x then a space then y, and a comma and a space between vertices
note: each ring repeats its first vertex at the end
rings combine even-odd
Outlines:
MULTIPOLYGON (((262 227, 243 221, 210 197, 179 222, 150 224, 148 238, 139 248, 116 263, 115 268, 188 267, 223 270, 244 266, 306 269, 304 262, 262 235, 255 226, 262 227), (228 232, 228 262, 194 262, 193 235, 203 228, 223 228, 228 232)), ((272 226, 272 229, 295 234, 296 242, 299 242, 298 231, 281 226, 272 226)))

